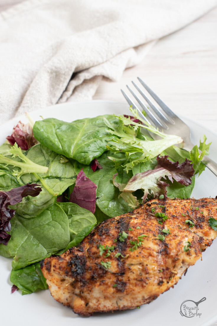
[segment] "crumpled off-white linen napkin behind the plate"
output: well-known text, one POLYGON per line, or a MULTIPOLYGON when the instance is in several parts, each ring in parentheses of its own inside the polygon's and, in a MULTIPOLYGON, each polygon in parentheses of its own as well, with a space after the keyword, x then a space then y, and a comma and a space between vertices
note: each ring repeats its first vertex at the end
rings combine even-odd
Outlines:
MULTIPOLYGON (((91 99, 217 0, 28 0, 0 12, 1 122, 91 99)), ((109 99, 109 96, 108 96, 109 99)))

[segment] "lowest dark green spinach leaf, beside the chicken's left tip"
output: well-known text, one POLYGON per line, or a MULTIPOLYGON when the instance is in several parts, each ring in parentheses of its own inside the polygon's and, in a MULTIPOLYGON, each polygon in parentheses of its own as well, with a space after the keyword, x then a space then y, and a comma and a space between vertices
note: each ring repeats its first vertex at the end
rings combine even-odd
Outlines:
POLYGON ((42 274, 39 262, 16 271, 12 270, 10 281, 22 291, 22 295, 35 292, 38 289, 47 289, 46 279, 42 274))

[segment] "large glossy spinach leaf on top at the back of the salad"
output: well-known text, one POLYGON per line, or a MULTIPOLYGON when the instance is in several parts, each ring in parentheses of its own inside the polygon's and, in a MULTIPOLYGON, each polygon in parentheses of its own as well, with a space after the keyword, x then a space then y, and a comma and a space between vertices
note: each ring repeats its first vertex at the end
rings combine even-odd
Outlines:
POLYGON ((60 155, 90 164, 107 150, 106 139, 109 133, 104 117, 111 124, 118 124, 118 119, 113 115, 85 118, 71 123, 48 118, 35 122, 34 137, 60 155))

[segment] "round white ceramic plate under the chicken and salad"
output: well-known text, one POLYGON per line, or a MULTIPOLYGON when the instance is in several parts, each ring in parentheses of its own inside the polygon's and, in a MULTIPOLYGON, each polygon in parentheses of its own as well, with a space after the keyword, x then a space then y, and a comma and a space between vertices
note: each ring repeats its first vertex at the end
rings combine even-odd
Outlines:
MULTIPOLYGON (((66 103, 49 107, 31 113, 33 120, 54 117, 65 121, 73 121, 84 117, 116 113, 129 113, 128 105, 122 102, 89 101, 66 103)), ((12 128, 19 120, 26 122, 24 116, 14 118, 1 127, 0 143, 11 134, 12 128)), ((205 133, 208 141, 212 141, 210 157, 217 161, 217 136, 209 130, 198 126, 193 121, 183 120, 191 129, 191 140, 197 143, 205 133)), ((196 199, 202 197, 215 197, 217 195, 217 178, 206 169, 196 180, 192 196, 196 199)), ((90 318, 82 318, 74 314, 70 308, 57 303, 50 295, 50 291, 21 296, 18 291, 11 294, 12 284, 9 281, 11 259, 0 257, 0 323, 1 325, 73 325, 76 326, 111 326, 117 325, 152 325, 152 326, 182 326, 184 323, 191 326, 214 325, 217 320, 217 240, 202 254, 202 261, 188 269, 186 276, 169 291, 160 295, 150 304, 140 309, 127 310, 110 314, 96 314, 90 318), (206 300, 198 305, 200 317, 186 318, 180 314, 180 306, 185 300, 198 302, 201 298, 206 300)))

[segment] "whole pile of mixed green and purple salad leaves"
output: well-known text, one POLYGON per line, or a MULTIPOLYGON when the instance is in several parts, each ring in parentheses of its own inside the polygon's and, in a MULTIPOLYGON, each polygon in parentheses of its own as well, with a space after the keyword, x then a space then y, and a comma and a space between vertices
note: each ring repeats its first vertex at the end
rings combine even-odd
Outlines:
POLYGON ((12 291, 46 289, 40 261, 78 245, 105 219, 153 197, 190 197, 205 169, 206 137, 186 152, 180 137, 131 111, 48 118, 33 129, 19 122, 0 146, 0 255, 13 257, 12 291))

